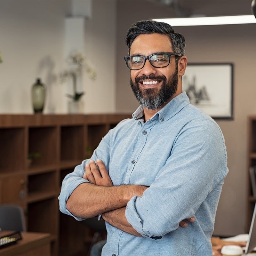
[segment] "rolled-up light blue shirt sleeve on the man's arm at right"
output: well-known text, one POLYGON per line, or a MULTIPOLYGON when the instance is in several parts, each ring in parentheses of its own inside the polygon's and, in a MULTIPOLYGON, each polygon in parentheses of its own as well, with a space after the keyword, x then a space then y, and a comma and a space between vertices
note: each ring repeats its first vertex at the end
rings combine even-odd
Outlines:
MULTIPOLYGON (((195 216, 206 197, 221 190, 226 174, 226 147, 219 127, 211 121, 187 125, 154 182, 141 197, 128 202, 125 216, 143 237, 161 238, 176 230, 181 220, 195 216)), ((208 200, 210 210, 216 211, 218 196, 208 200)))

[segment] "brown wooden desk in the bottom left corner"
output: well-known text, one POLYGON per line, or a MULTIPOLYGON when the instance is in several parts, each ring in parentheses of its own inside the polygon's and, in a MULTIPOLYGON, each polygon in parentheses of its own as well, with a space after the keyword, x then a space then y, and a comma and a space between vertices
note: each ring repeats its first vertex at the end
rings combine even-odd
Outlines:
MULTIPOLYGON (((3 231, 5 236, 13 231, 3 231)), ((16 244, 0 249, 1 256, 50 256, 51 235, 48 233, 20 232, 22 239, 16 244)))

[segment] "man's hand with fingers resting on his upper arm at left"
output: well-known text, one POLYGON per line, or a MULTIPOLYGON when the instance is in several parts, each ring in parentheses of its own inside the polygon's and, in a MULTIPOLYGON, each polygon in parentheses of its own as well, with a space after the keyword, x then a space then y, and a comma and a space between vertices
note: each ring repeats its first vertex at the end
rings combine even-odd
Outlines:
POLYGON ((83 178, 98 186, 113 186, 113 182, 110 179, 108 171, 103 162, 98 159, 96 163, 91 160, 89 164, 85 165, 85 172, 83 178))

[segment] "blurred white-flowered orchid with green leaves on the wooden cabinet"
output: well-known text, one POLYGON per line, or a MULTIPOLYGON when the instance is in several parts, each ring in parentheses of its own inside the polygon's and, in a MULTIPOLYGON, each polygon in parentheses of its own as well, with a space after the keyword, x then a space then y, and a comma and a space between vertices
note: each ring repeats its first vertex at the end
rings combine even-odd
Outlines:
MULTIPOLYGON (((71 78, 73 84, 73 94, 67 94, 67 97, 71 99, 71 102, 75 103, 78 108, 78 101, 84 95, 84 92, 77 91, 77 78, 81 76, 82 71, 85 70, 89 74, 89 78, 94 81, 97 76, 97 72, 85 56, 81 52, 75 52, 70 54, 67 59, 68 69, 64 70, 60 74, 61 83, 66 82, 68 78, 71 78)), ((72 112, 72 111, 71 111, 72 112)), ((74 111, 76 112, 76 111, 74 111)))

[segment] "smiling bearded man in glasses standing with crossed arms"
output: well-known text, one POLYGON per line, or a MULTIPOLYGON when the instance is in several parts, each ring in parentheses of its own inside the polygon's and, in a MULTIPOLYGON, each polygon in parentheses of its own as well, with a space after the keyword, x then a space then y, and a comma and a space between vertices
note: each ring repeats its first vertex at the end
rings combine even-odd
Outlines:
POLYGON ((219 126, 182 92, 184 37, 145 20, 128 30, 126 44, 141 106, 65 177, 60 210, 76 220, 102 214, 103 256, 212 256, 227 154, 219 126))

